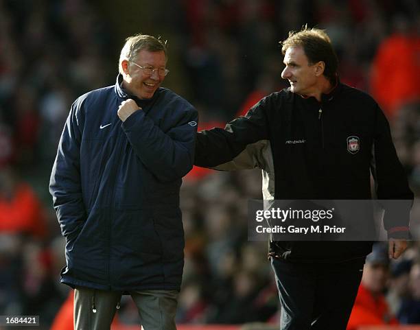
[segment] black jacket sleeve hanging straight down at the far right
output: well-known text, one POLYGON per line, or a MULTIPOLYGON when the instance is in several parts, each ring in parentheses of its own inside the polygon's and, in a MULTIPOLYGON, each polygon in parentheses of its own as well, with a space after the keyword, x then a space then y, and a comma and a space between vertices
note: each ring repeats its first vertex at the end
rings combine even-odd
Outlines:
POLYGON ((389 123, 377 106, 371 172, 377 198, 384 208, 384 227, 388 237, 410 238, 410 209, 414 195, 408 186, 404 167, 399 162, 389 123))

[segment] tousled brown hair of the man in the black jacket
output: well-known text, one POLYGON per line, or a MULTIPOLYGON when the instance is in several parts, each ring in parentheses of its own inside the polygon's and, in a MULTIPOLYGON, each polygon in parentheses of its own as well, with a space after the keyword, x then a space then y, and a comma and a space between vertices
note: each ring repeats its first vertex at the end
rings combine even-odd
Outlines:
POLYGON ((283 55, 289 47, 301 46, 310 64, 323 61, 325 63, 324 75, 331 84, 336 84, 338 58, 331 40, 324 30, 302 27, 299 32, 291 31, 286 40, 280 41, 283 55))

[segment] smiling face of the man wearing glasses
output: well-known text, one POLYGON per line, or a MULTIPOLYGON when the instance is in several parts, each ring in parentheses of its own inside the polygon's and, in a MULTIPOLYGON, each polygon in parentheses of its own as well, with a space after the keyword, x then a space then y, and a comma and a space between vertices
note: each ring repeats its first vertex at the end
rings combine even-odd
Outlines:
MULTIPOLYGON (((133 62, 143 68, 165 68, 165 52, 142 49, 133 62)), ((128 62, 128 75, 124 77, 124 87, 139 99, 150 99, 164 79, 165 76, 159 75, 157 70, 154 70, 152 75, 148 75, 137 65, 128 62)))

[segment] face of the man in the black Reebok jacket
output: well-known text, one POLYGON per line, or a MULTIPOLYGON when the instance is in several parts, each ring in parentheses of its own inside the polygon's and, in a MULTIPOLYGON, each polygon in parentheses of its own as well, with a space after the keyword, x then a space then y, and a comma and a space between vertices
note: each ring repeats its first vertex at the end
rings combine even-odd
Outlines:
POLYGON ((317 89, 316 65, 310 65, 303 47, 289 47, 284 55, 281 78, 290 82, 293 93, 312 95, 317 89))

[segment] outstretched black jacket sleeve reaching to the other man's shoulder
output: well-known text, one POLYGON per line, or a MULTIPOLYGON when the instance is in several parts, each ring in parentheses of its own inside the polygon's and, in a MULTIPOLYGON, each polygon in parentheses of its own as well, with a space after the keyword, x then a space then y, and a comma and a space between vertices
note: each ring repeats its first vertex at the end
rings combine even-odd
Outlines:
POLYGON ((267 104, 268 97, 224 129, 198 132, 194 165, 222 170, 262 167, 258 154, 269 140, 267 104))

